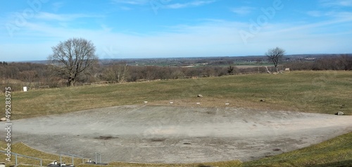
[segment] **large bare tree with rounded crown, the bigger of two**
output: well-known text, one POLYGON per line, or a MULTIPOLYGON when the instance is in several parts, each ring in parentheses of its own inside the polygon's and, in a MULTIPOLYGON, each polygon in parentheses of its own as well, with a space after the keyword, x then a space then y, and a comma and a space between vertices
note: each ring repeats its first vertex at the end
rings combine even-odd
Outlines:
POLYGON ((68 79, 68 86, 73 86, 80 73, 98 59, 94 44, 82 38, 68 39, 51 49, 53 54, 48 59, 54 65, 54 70, 68 79))

